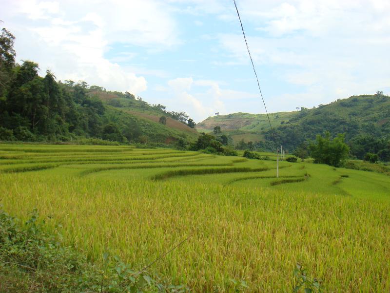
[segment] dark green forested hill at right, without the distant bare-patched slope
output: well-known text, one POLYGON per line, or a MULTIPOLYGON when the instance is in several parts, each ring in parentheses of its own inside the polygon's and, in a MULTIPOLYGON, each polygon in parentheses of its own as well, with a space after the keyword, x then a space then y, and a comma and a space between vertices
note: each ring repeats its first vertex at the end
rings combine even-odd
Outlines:
POLYGON ((351 146, 363 138, 389 139, 390 97, 381 93, 352 96, 313 109, 301 108, 289 121, 275 127, 274 133, 268 130, 265 138, 275 136, 279 143, 295 147, 326 130, 333 135, 345 133, 351 146))

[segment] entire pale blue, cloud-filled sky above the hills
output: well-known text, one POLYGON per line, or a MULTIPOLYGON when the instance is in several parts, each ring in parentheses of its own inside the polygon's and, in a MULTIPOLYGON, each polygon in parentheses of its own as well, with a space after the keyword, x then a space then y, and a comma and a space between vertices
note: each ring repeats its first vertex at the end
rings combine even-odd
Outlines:
MULTIPOLYGON (((17 61, 195 122, 265 113, 233 0, 0 0, 17 61)), ((269 112, 390 95, 389 0, 236 0, 269 112)))

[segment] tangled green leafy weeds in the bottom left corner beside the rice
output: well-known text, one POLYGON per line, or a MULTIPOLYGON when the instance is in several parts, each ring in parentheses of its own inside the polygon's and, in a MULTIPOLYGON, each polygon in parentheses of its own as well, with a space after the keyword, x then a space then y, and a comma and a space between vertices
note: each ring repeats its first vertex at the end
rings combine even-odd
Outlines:
POLYGON ((24 225, 0 209, 0 292, 172 292, 188 289, 134 272, 119 257, 103 254, 103 266, 88 262, 59 235, 44 232, 36 209, 24 225), (16 277, 15 277, 16 276, 16 277))

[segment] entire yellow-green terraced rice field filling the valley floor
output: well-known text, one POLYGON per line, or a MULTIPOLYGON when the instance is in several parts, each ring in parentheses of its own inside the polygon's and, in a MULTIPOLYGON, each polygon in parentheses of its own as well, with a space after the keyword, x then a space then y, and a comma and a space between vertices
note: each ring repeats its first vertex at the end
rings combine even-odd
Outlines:
MULTIPOLYGON (((262 154, 265 155, 265 154, 262 154)), ((267 154, 272 158, 272 154, 267 154)), ((390 178, 311 163, 131 146, 0 145, 0 199, 90 258, 195 292, 288 292, 297 262, 330 292, 390 291, 390 178)))

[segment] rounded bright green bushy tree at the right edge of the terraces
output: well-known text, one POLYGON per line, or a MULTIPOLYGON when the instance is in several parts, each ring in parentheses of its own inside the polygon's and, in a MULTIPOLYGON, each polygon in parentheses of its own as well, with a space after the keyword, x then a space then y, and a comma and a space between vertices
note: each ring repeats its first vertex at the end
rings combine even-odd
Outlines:
POLYGON ((344 143, 344 134, 339 133, 331 140, 329 131, 325 132, 325 137, 317 135, 316 143, 311 143, 309 149, 314 163, 327 164, 334 167, 343 166, 350 151, 349 146, 344 143))

